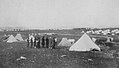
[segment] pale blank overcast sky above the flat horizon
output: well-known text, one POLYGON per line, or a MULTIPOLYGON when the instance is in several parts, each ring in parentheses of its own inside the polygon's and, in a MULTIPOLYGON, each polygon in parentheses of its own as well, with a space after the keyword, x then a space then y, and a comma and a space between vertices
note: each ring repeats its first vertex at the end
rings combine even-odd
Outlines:
POLYGON ((118 27, 119 0, 0 0, 0 27, 118 27))

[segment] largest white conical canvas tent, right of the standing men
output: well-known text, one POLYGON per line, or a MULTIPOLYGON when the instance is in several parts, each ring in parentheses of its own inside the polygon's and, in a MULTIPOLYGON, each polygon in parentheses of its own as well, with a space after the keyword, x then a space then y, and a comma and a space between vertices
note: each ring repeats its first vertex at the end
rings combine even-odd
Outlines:
POLYGON ((90 51, 92 49, 100 51, 100 48, 84 33, 82 37, 69 48, 69 51, 90 51))

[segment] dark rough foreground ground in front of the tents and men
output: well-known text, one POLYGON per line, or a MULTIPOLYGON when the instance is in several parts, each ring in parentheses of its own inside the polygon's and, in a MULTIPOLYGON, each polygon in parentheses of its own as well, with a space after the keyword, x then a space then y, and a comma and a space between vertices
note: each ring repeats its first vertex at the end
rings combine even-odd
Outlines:
POLYGON ((58 47, 37 49, 26 45, 26 42, 0 42, 0 68, 119 68, 118 54, 110 58, 98 52, 70 52, 58 47), (19 59, 21 56, 25 59, 19 59))

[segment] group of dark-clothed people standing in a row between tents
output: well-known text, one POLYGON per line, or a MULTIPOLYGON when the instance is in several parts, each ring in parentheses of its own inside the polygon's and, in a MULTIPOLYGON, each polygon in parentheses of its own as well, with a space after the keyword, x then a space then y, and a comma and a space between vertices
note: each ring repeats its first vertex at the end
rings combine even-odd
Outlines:
POLYGON ((31 48, 51 48, 55 49, 57 38, 52 36, 37 36, 27 39, 27 47, 31 48))

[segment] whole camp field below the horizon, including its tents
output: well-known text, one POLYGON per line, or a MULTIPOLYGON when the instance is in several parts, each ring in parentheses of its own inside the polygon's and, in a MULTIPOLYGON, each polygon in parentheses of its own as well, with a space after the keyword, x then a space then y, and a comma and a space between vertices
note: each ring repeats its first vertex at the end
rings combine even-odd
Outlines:
POLYGON ((85 30, 1 32, 0 67, 118 68, 118 35, 105 36, 101 33, 95 34, 94 30, 91 32, 85 30), (49 39, 48 47, 47 41, 42 47, 43 36, 44 40, 49 39), (35 41, 35 38, 40 41, 35 41), (57 41, 55 48, 52 47, 53 38, 57 41), (40 47, 36 46, 39 43, 40 47), (35 46, 30 47, 31 44, 35 46))

